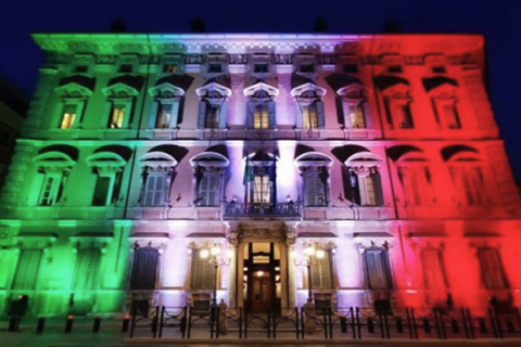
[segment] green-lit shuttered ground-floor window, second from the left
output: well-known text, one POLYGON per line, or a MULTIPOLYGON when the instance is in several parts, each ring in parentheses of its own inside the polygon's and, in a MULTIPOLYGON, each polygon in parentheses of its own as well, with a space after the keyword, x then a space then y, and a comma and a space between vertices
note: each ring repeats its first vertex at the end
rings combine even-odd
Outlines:
POLYGON ((79 249, 74 267, 73 290, 91 291, 98 285, 100 272, 100 249, 79 249))

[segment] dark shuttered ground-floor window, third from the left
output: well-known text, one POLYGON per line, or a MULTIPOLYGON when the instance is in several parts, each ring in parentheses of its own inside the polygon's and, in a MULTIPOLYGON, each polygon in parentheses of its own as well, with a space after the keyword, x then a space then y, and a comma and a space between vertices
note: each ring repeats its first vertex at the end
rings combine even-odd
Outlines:
POLYGON ((154 290, 158 264, 160 252, 157 248, 137 248, 134 252, 130 290, 154 290))

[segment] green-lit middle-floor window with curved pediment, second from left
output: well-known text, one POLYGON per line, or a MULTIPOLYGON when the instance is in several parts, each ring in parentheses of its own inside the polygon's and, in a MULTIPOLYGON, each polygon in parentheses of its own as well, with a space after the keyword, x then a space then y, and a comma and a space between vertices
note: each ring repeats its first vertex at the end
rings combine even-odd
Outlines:
POLYGON ((92 206, 107 206, 117 203, 120 194, 125 159, 110 152, 89 156, 87 165, 96 174, 92 206))

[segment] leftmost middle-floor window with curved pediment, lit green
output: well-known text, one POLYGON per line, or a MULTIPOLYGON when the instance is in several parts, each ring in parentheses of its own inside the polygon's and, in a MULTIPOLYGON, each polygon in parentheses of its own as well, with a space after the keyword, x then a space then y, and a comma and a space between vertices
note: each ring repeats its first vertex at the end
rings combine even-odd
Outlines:
POLYGON ((36 156, 33 162, 41 175, 38 206, 53 206, 63 197, 73 166, 76 164, 67 154, 47 152, 36 156))

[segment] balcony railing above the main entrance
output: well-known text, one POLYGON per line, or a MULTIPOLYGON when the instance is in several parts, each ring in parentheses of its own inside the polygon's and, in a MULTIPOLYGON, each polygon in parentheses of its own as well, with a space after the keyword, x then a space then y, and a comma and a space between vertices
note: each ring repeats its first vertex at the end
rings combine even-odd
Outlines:
POLYGON ((300 217, 301 208, 295 203, 226 203, 225 217, 300 217))

